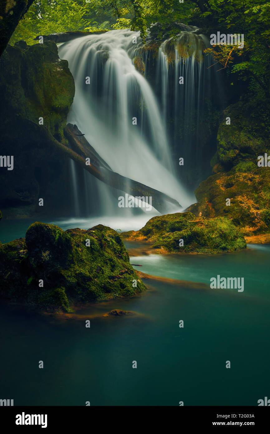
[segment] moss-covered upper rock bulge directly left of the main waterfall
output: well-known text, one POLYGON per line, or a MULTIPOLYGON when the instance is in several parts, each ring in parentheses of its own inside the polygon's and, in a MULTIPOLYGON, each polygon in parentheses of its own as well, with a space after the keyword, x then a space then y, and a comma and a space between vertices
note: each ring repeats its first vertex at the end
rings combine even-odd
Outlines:
POLYGON ((6 110, 44 125, 58 140, 75 95, 67 60, 60 60, 54 42, 22 48, 8 46, 0 61, 0 90, 6 110))

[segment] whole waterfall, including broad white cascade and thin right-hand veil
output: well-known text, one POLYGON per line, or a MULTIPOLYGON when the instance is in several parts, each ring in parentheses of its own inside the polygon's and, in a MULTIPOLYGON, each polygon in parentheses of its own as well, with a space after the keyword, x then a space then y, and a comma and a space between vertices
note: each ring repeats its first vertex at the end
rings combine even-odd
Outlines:
MULTIPOLYGON (((75 97, 67 121, 78 126, 113 171, 173 197, 182 210, 195 202, 195 196, 177 164, 179 157, 184 157, 187 168, 192 148, 196 161, 202 152, 198 143, 191 143, 188 130, 191 118, 200 116, 207 84, 202 73, 205 40, 194 34, 195 29, 184 26, 177 41, 168 39, 159 47, 157 92, 148 80, 149 53, 143 49, 139 32, 112 30, 59 45, 59 57, 68 60, 75 79, 75 97), (136 59, 145 69, 144 76, 134 65, 136 59), (179 76, 184 76, 186 86, 179 85, 179 76), (86 77, 90 84, 86 84, 86 77), (172 118, 174 125, 167 132, 167 120, 172 118), (176 149, 172 152, 173 145, 177 154, 176 149)), ((73 166, 71 174, 73 189, 77 185, 78 190, 77 195, 74 193, 75 214, 108 216, 125 212, 130 217, 143 212, 118 208, 117 197, 124 193, 90 174, 84 174, 83 181, 75 180, 78 172, 73 166)), ((151 215, 145 214, 148 220, 151 215)))

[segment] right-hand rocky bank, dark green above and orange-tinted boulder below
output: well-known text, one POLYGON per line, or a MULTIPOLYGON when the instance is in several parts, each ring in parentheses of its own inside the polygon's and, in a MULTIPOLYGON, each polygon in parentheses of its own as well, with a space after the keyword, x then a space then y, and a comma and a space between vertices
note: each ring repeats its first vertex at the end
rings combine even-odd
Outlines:
POLYGON ((257 164, 260 155, 270 155, 269 118, 267 102, 241 100, 224 111, 211 161, 214 174, 195 190, 198 203, 188 210, 226 216, 247 236, 270 232, 270 168, 257 164))

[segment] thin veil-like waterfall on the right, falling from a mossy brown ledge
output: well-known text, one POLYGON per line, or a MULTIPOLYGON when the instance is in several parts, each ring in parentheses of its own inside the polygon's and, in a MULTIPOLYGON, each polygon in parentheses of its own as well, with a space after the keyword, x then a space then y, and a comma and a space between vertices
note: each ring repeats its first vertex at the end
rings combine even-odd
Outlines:
MULTIPOLYGON (((156 68, 156 88, 169 125, 171 152, 184 158, 178 176, 189 193, 211 175, 209 162, 216 150, 211 118, 222 104, 217 68, 211 68, 213 58, 203 53, 208 39, 197 33, 197 27, 182 25, 178 38, 160 45, 156 68), (217 88, 219 95, 215 94, 217 88)), ((147 78, 147 69, 145 75, 147 78)))

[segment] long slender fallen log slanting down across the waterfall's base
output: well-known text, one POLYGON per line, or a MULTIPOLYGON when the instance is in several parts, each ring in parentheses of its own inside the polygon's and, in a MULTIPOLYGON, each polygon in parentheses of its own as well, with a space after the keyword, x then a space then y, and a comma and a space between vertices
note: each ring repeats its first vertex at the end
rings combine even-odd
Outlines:
POLYGON ((124 191, 131 196, 152 197, 153 207, 163 214, 166 213, 166 210, 168 210, 166 202, 174 204, 176 207, 180 207, 179 202, 172 197, 169 197, 167 194, 162 193, 161 191, 155 190, 154 188, 148 187, 147 185, 138 181, 134 181, 130 178, 122 176, 116 172, 108 170, 107 168, 101 168, 95 166, 94 164, 86 165, 85 158, 81 157, 81 155, 79 155, 77 152, 56 140, 56 138, 53 137, 53 135, 44 127, 44 125, 37 125, 32 121, 28 122, 33 125, 33 128, 36 128, 37 136, 42 131, 43 136, 49 145, 52 145, 58 149, 58 151, 67 155, 69 158, 72 158, 72 160, 80 164, 84 170, 88 171, 95 178, 98 178, 100 181, 104 182, 104 184, 114 187, 117 190, 124 191))

